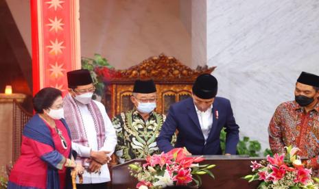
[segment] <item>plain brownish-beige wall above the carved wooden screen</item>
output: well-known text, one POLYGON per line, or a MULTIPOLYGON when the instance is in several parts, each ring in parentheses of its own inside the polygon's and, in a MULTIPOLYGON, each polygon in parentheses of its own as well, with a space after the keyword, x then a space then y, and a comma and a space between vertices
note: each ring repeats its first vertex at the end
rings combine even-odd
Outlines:
POLYGON ((115 68, 152 55, 173 55, 191 66, 191 37, 178 0, 80 0, 82 56, 100 53, 115 68))

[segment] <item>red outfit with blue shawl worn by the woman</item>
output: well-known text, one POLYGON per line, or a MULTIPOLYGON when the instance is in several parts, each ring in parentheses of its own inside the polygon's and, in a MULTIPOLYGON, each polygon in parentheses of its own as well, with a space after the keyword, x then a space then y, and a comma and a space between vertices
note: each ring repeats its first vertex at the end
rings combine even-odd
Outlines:
POLYGON ((21 155, 10 172, 9 188, 65 188, 69 174, 63 164, 66 157, 71 158, 71 138, 66 123, 55 122, 67 149, 56 129, 34 115, 23 129, 21 155))

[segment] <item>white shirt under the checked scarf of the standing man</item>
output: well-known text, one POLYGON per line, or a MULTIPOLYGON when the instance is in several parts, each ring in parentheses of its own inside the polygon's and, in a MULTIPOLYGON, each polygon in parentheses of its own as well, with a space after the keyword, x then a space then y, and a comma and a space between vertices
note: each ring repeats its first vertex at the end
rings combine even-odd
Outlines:
MULTIPOLYGON (((102 113, 102 117, 104 120, 105 125, 105 141, 103 144, 103 147, 99 149, 99 151, 110 151, 108 153, 108 156, 112 155, 115 146, 117 144, 117 136, 115 133, 115 129, 112 125, 112 122, 110 121, 110 118, 106 114, 105 107, 102 103, 98 101, 94 101, 97 107, 99 108, 99 111, 102 113)), ((91 113, 88 111, 88 108, 86 105, 78 102, 75 100, 75 103, 78 104, 78 107, 80 109, 80 113, 82 115, 84 130, 86 132, 86 137, 88 138, 88 147, 84 147, 81 144, 77 144, 75 142, 72 142, 72 148, 75 150, 79 156, 81 157, 90 157, 91 149, 93 151, 98 151, 97 147, 97 134, 95 131, 95 125, 93 122, 93 118, 91 116, 91 113)), ((87 171, 84 171, 83 174, 83 184, 96 184, 96 183, 102 183, 110 181, 110 171, 108 171, 108 164, 104 164, 101 169, 101 173, 88 173, 87 171)), ((76 182, 78 183, 78 177, 76 182)))

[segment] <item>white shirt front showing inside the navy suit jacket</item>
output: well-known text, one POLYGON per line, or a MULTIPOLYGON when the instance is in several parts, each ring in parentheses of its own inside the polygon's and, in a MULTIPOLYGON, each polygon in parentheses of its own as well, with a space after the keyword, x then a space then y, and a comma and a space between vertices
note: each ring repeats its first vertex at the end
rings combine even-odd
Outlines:
POLYGON ((211 131, 211 127, 213 125, 212 108, 213 108, 213 105, 211 105, 211 108, 207 109, 206 112, 202 112, 198 110, 198 108, 195 105, 198 121, 200 121, 200 128, 202 129, 202 134, 204 135, 205 144, 206 144, 207 138, 209 138, 209 132, 211 131))

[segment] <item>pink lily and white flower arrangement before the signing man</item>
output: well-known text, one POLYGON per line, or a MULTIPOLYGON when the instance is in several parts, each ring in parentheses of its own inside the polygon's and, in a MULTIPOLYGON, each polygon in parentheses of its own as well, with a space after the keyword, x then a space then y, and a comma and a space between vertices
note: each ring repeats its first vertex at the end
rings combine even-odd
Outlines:
POLYGON ((184 149, 176 148, 168 153, 148 156, 143 165, 130 164, 129 169, 131 175, 139 180, 139 189, 190 185, 192 181, 196 183, 194 187, 199 187, 202 184, 200 175, 208 174, 214 178, 209 169, 215 165, 199 165, 198 162, 203 160, 202 156, 187 157, 184 149))

